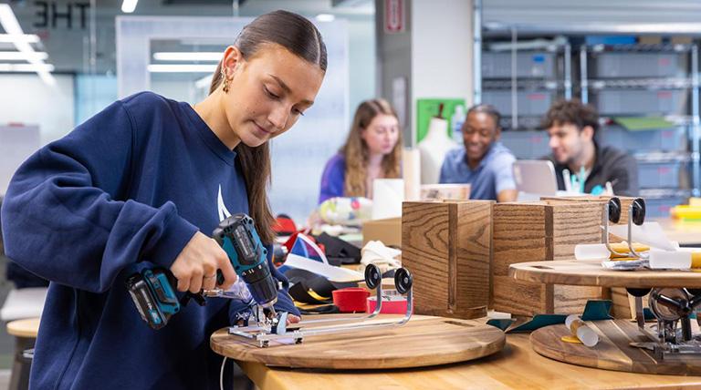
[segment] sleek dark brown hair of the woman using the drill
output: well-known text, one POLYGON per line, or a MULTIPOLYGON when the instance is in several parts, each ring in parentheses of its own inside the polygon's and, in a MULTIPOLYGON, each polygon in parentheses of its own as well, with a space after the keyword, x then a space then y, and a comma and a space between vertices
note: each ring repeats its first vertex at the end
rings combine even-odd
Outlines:
MULTIPOLYGON (((256 54, 261 44, 266 43, 283 46, 326 72, 326 45, 317 27, 303 16, 281 10, 260 15, 241 30, 234 46, 247 59, 256 54)), ((222 83, 222 62, 223 60, 219 62, 214 71, 210 95, 222 83)), ((267 186, 271 181, 270 147, 267 142, 256 148, 250 148, 241 142, 235 151, 246 181, 248 212, 256 221, 256 230, 261 240, 272 243, 275 239, 275 218, 267 200, 267 186)))

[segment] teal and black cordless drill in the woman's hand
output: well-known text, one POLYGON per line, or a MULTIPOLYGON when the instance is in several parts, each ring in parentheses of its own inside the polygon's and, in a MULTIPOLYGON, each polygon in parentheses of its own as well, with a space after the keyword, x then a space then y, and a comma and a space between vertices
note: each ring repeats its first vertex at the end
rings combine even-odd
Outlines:
MULTIPOLYGON (((255 223, 246 214, 235 214, 219 223, 212 237, 222 246, 236 274, 246 282, 251 297, 275 318, 273 304, 277 302, 277 282, 267 266, 267 249, 260 241, 255 223)), ((224 283, 224 274, 217 270, 217 284, 224 283)), ((161 329, 191 298, 204 304, 204 296, 239 298, 218 291, 186 293, 178 299, 173 286, 173 273, 164 268, 145 269, 127 279, 127 291, 141 314, 141 319, 153 329, 161 329)))

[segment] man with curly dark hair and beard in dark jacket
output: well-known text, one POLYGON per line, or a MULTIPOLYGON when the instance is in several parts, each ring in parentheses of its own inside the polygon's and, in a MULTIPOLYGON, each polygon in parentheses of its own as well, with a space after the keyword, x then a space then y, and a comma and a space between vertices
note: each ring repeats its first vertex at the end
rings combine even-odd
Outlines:
POLYGON ((578 99, 557 101, 549 108, 542 127, 550 137, 552 155, 548 159, 555 165, 559 190, 566 189, 562 172, 568 169, 584 182, 583 192, 601 193, 608 182, 616 195, 637 195, 637 162, 623 150, 597 143, 599 115, 595 108, 578 99))

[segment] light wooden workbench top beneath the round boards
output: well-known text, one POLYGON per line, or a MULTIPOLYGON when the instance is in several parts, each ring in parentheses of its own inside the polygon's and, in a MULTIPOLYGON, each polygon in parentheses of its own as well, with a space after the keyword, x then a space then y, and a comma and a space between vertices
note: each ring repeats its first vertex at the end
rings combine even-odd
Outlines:
POLYGON ((646 375, 560 363, 533 351, 528 334, 508 334, 500 353, 465 364, 391 371, 314 371, 241 363, 261 389, 651 388, 701 386, 701 376, 646 375))

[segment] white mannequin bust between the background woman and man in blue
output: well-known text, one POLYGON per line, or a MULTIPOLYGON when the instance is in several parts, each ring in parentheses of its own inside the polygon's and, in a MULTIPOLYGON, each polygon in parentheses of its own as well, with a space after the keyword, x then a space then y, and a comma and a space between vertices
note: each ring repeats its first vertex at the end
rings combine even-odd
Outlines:
POLYGON ((437 183, 440 179, 445 153, 459 146, 448 137, 448 121, 443 118, 431 118, 428 133, 418 145, 421 153, 421 183, 437 183))

